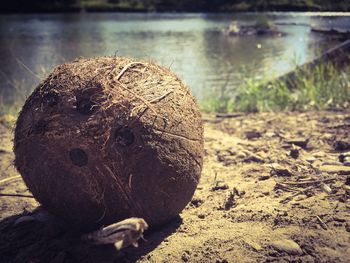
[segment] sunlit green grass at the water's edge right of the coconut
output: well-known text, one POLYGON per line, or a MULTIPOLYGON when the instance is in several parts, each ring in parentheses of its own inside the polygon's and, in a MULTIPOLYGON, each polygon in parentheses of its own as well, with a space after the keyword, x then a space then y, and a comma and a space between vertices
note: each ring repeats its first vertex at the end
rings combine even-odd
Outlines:
POLYGON ((350 103, 350 66, 339 71, 333 64, 299 72, 293 85, 242 75, 231 90, 220 87, 204 96, 205 112, 305 111, 340 109, 350 103))

